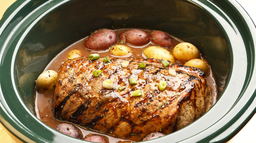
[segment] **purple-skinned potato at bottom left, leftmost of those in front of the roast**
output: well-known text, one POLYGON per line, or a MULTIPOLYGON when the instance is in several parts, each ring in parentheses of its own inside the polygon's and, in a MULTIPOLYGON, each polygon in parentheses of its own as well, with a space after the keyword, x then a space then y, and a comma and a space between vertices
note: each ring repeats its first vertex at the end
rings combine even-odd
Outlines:
POLYGON ((62 123, 57 125, 55 128, 56 131, 59 131, 60 133, 63 133, 65 135, 69 135, 75 138, 82 139, 82 135, 79 133, 79 131, 71 124, 68 123, 62 123))

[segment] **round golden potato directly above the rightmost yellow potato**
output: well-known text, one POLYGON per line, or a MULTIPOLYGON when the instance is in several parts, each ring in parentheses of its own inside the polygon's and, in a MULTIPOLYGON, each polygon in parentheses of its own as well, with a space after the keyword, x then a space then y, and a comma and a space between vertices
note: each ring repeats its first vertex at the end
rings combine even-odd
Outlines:
POLYGON ((180 62, 187 62, 191 59, 198 58, 200 53, 191 43, 182 42, 174 47, 173 56, 180 62))

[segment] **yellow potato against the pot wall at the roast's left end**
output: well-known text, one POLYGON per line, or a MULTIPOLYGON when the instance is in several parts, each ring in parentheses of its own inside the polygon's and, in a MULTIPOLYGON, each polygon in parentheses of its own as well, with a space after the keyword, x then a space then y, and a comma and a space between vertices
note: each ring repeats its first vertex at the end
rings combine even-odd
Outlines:
POLYGON ((56 71, 44 71, 36 80, 36 90, 40 93, 52 93, 55 89, 57 76, 56 71))

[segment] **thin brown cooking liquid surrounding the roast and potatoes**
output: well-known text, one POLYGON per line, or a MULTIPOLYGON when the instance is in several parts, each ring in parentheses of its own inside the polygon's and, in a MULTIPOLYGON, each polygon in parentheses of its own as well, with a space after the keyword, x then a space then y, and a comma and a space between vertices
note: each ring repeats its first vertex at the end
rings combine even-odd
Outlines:
MULTIPOLYGON (((127 30, 127 29, 115 30, 116 35, 118 36, 120 33, 122 33, 125 30, 127 30)), ((150 32, 151 32, 150 30, 145 30, 145 31, 148 34, 150 34, 150 32)), ((170 53, 173 52, 173 48, 177 44, 183 42, 183 41, 181 41, 181 40, 179 40, 179 39, 177 39, 173 36, 171 36, 171 37, 172 37, 172 40, 174 41, 173 46, 171 46, 169 48, 165 48, 170 53)), ((146 59, 146 56, 142 53, 143 50, 145 48, 149 47, 149 46, 154 46, 154 44, 152 44, 151 41, 148 44, 144 45, 144 46, 132 46, 132 45, 128 45, 126 43, 122 43, 122 45, 129 46, 131 48, 131 52, 126 56, 115 56, 115 55, 112 55, 110 53, 109 49, 104 50, 104 51, 91 51, 91 50, 86 49, 85 46, 84 46, 84 42, 85 42, 86 38, 75 42, 74 44, 70 45, 69 47, 64 49, 62 52, 60 52, 47 65, 47 67, 45 68, 44 71, 53 70, 53 71, 58 72, 59 67, 67 60, 68 53, 72 50, 75 50, 75 49, 80 50, 80 52, 81 52, 80 56, 84 56, 84 57, 89 57, 89 55, 91 55, 91 54, 99 53, 99 55, 103 56, 103 57, 105 57, 105 56, 114 56, 114 57, 133 57, 133 58, 144 58, 144 59, 146 59)), ((119 44, 121 44, 120 39, 118 39, 117 42, 119 44)), ((205 58, 202 55, 200 56, 200 58, 203 59, 206 62, 206 64, 208 65, 207 61, 205 60, 205 58)), ((180 62, 176 61, 175 64, 184 64, 184 63, 180 63, 180 62)), ((212 96, 211 105, 212 105, 217 100, 216 99, 216 97, 217 97, 217 86, 216 86, 216 82, 215 82, 215 79, 214 79, 213 72, 212 72, 209 65, 208 65, 208 68, 209 68, 209 72, 205 75, 205 79, 206 79, 207 85, 208 85, 208 87, 210 89, 210 92, 211 92, 211 96, 212 96)), ((35 113, 36 113, 37 118, 40 119, 41 121, 43 121, 48 126, 55 129, 58 124, 64 123, 66 121, 61 121, 59 119, 54 118, 54 114, 53 114, 53 109, 54 108, 53 107, 54 107, 54 105, 53 105, 53 93, 51 93, 51 94, 42 94, 42 93, 36 92, 35 113)), ((73 124, 73 125, 75 125, 75 124, 73 124)), ((104 134, 96 132, 96 131, 90 131, 89 129, 87 129, 85 127, 81 127, 81 126, 77 126, 77 125, 75 125, 75 126, 79 130, 81 130, 81 133, 83 134, 83 137, 87 136, 88 134, 104 135, 104 134)), ((130 140, 115 138, 115 137, 112 137, 112 136, 109 136, 109 135, 105 135, 105 136, 107 136, 109 138, 110 143, 114 143, 114 142, 124 143, 126 141, 127 141, 127 143, 131 142, 130 140)))

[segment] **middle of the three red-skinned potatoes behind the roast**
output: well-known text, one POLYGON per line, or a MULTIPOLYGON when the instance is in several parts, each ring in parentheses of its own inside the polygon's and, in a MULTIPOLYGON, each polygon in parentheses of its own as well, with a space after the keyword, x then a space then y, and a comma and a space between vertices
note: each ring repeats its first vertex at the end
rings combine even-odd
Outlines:
POLYGON ((126 30, 119 34, 119 38, 134 46, 142 46, 150 42, 149 35, 145 31, 139 29, 126 30))

